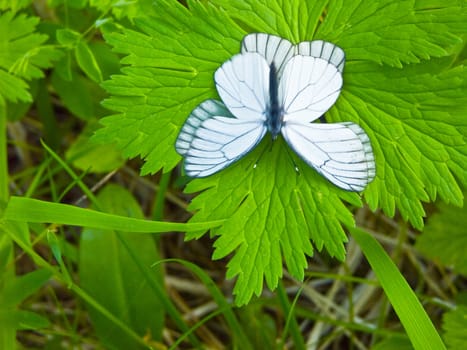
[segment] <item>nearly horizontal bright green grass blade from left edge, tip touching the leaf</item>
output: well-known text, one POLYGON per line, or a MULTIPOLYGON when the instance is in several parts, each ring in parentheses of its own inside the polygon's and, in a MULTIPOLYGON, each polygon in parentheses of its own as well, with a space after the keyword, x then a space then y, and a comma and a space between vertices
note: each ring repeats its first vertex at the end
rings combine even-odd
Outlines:
POLYGON ((105 230, 130 232, 185 232, 208 230, 223 220, 203 223, 179 224, 149 221, 83 209, 68 204, 51 203, 31 198, 12 197, 5 210, 5 219, 35 223, 87 226, 105 230))

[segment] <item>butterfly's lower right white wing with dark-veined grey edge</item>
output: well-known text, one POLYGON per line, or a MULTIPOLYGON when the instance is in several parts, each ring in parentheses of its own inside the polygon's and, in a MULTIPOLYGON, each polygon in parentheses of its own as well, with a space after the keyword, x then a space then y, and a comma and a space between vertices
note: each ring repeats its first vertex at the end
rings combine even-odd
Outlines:
POLYGON ((363 191, 375 177, 370 140, 357 124, 289 122, 281 132, 300 158, 344 190, 363 191))

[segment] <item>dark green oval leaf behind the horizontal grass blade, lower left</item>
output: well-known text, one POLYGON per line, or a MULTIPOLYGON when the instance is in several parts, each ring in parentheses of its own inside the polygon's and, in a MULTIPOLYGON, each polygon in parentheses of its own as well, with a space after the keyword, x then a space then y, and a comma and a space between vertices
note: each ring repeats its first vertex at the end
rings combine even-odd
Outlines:
MULTIPOLYGON (((97 199, 100 207, 109 213, 143 218, 138 203, 119 186, 105 187, 97 199)), ((81 286, 141 337, 160 340, 164 324, 163 304, 145 282, 132 253, 137 254, 146 268, 159 260, 151 235, 86 228, 81 235, 79 250, 81 286)), ((161 276, 158 277, 154 278, 155 283, 162 285, 161 276)), ((102 343, 108 348, 143 348, 92 305, 89 315, 102 343)))

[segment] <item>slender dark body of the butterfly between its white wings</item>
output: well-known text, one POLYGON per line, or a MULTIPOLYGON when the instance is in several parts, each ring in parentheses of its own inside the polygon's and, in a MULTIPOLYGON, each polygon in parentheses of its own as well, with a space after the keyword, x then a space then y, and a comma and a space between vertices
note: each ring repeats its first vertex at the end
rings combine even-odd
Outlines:
POLYGON ((284 109, 279 104, 277 70, 274 62, 271 63, 269 70, 269 104, 266 109, 266 127, 275 140, 282 128, 284 119, 284 109))

